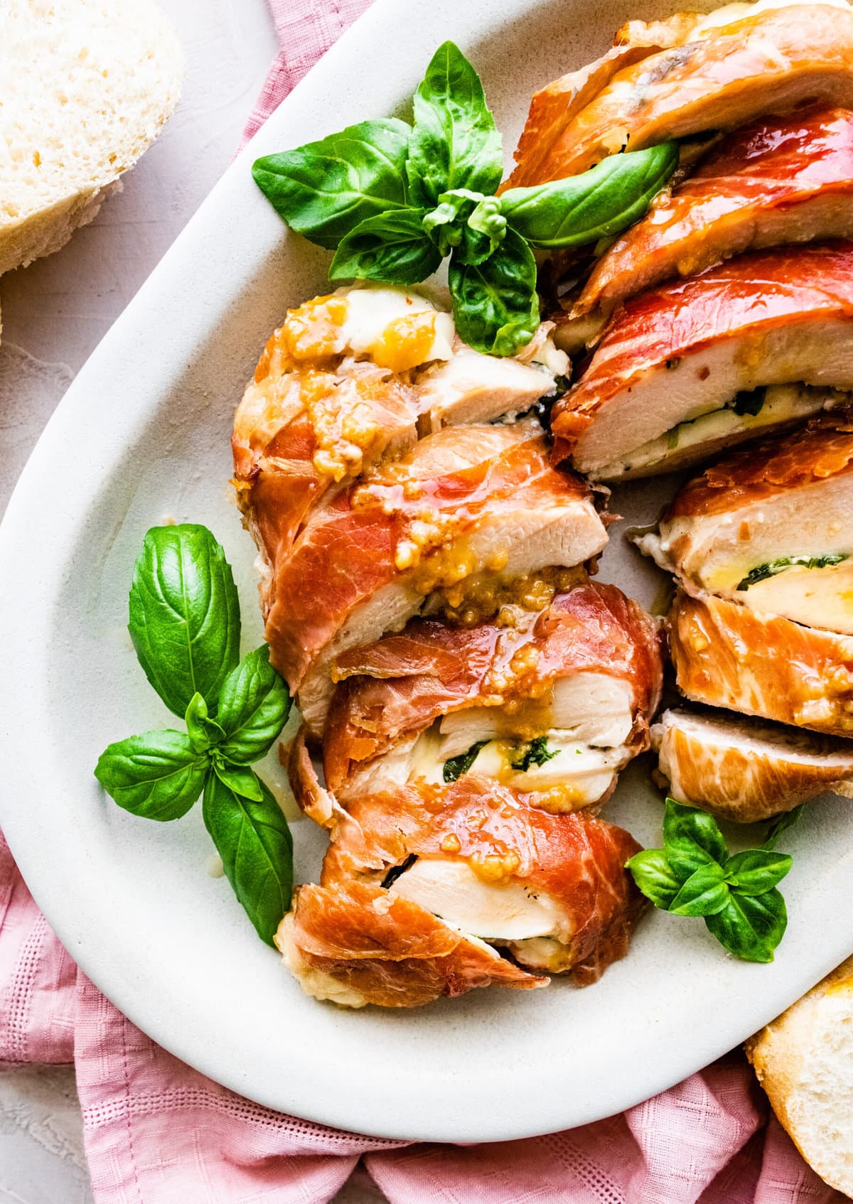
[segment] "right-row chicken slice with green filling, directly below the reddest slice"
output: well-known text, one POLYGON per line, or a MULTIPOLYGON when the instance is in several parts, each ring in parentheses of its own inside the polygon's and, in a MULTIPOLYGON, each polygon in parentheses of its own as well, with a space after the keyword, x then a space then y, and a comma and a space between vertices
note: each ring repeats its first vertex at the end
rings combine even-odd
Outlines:
POLYGON ((853 413, 735 452, 635 542, 684 589, 853 636, 853 413))

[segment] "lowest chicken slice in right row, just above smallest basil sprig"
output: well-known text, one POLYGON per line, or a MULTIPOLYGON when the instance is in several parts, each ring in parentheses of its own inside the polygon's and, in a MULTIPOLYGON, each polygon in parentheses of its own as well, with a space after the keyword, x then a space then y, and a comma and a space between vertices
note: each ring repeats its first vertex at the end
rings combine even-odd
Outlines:
POLYGON ((853 790, 853 743, 829 736, 724 712, 665 710, 652 743, 680 802, 737 824, 770 819, 828 790, 853 790))

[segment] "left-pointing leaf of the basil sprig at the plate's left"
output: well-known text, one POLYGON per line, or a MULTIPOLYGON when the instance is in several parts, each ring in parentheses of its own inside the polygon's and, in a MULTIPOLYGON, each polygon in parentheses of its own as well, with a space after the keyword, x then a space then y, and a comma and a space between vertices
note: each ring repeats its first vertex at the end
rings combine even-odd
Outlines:
POLYGON ((110 744, 95 778, 125 811, 147 820, 177 820, 201 793, 207 756, 183 732, 145 732, 110 744))

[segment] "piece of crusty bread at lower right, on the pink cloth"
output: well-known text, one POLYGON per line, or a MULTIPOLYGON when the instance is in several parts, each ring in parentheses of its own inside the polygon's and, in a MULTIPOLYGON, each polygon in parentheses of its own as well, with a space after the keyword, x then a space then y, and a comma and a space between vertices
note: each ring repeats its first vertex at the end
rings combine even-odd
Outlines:
POLYGON ((853 1197, 853 957, 746 1045, 806 1162, 853 1197))

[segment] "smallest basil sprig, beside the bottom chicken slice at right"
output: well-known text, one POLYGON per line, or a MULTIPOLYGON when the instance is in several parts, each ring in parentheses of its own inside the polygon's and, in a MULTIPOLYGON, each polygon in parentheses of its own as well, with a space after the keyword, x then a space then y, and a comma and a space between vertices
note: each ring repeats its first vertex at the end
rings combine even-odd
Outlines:
POLYGON ((798 807, 781 816, 761 848, 729 856, 712 815, 667 798, 664 848, 645 849, 625 864, 657 908, 702 916, 708 931, 736 957, 772 962, 788 923, 776 887, 792 866, 792 857, 776 852, 775 845, 801 813, 798 807))

